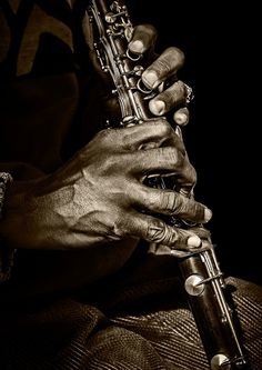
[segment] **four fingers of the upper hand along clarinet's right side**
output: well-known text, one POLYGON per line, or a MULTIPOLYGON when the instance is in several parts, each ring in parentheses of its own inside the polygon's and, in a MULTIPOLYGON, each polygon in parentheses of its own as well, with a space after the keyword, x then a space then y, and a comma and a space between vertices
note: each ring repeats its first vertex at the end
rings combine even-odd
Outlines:
POLYGON ((178 72, 184 63, 184 53, 171 47, 160 56, 154 53, 157 30, 151 24, 138 26, 133 30, 129 50, 134 54, 149 54, 153 60, 142 73, 142 81, 147 88, 155 90, 161 87, 161 92, 150 100, 149 108, 154 116, 164 116, 175 109, 173 118, 177 124, 184 126, 189 122, 187 108, 190 98, 190 88, 178 79, 178 72), (162 89, 163 88, 163 89, 162 89))

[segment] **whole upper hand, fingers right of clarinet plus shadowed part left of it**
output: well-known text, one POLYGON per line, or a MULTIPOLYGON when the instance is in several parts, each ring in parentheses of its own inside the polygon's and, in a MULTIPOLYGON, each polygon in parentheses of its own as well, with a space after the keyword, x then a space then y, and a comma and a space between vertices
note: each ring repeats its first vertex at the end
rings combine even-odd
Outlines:
MULTIPOLYGON (((189 122, 189 87, 178 79, 178 72, 183 67, 184 53, 175 47, 168 48, 160 56, 154 51, 158 32, 151 24, 134 27, 128 49, 133 54, 142 56, 138 63, 142 64, 144 71, 142 81, 148 89, 159 92, 149 101, 149 109, 153 116, 164 116, 174 111, 173 119, 177 124, 185 126, 189 122)), ((90 46, 90 59, 97 71, 95 89, 103 101, 103 109, 107 117, 118 117, 118 98, 112 94, 114 86, 110 73, 101 70, 97 51, 90 46)))

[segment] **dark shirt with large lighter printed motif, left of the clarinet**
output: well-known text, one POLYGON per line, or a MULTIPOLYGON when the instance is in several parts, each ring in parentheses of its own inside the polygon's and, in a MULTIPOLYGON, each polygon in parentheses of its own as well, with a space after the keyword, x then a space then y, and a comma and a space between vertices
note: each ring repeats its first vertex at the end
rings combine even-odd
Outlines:
MULTIPOLYGON (((0 158, 19 166, 18 180, 30 176, 23 173, 29 167, 37 177, 61 166, 67 134, 88 141, 94 133, 95 124, 90 118, 87 123, 83 111, 72 126, 80 92, 84 99, 80 89, 85 87, 78 77, 89 68, 81 27, 87 3, 74 3, 75 8, 63 0, 0 2, 0 158)), ((84 109, 93 106, 95 111, 98 103, 87 100, 84 109)))

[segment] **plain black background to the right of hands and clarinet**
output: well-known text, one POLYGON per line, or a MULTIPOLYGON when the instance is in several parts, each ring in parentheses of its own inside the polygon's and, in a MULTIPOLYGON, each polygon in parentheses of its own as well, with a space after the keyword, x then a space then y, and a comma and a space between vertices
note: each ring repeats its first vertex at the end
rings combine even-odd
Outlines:
POLYGON ((209 206, 221 269, 262 284, 259 11, 249 2, 129 0, 133 23, 152 23, 157 51, 185 53, 180 78, 194 89, 184 140, 209 206))

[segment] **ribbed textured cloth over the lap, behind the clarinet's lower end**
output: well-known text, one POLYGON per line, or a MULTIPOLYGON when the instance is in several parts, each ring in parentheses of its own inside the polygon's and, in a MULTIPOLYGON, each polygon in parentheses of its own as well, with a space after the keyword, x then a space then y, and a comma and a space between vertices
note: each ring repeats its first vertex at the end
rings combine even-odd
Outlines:
MULTIPOLYGON (((252 370, 261 370, 262 289, 229 278, 252 370)), ((194 319, 175 278, 121 282, 85 296, 1 313, 3 370, 208 370, 194 319)), ((100 287, 101 289, 101 287, 100 287)))

